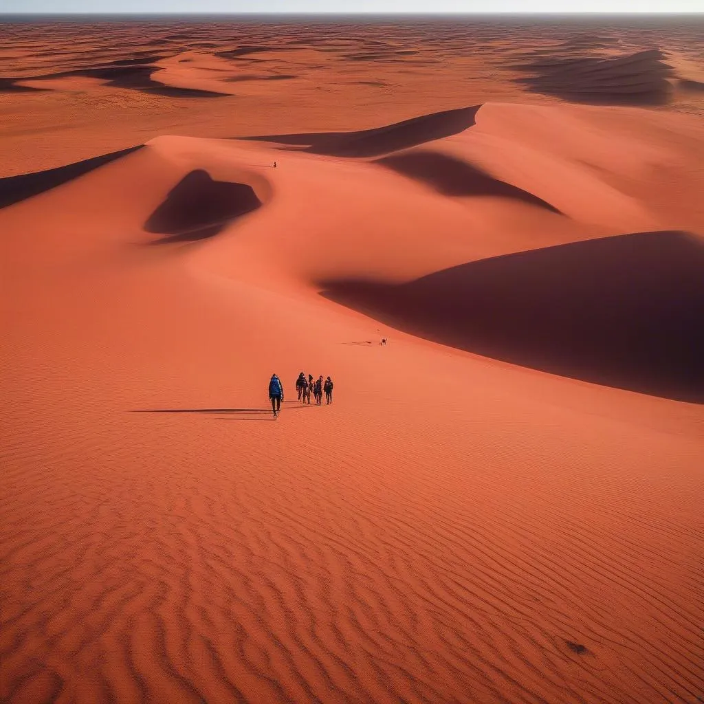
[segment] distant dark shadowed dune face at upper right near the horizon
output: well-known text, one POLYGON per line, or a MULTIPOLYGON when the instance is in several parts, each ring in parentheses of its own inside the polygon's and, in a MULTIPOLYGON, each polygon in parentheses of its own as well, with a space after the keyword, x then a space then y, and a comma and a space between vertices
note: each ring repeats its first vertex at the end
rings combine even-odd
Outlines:
POLYGON ((648 105, 667 102, 672 70, 659 49, 608 58, 539 58, 517 66, 537 71, 519 83, 535 92, 581 103, 648 105))

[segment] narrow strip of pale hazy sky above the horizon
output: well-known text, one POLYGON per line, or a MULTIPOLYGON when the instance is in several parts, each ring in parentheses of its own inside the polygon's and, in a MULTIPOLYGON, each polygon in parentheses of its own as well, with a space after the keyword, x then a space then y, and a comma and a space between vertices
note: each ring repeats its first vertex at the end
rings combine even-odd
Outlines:
POLYGON ((0 13, 704 12, 704 0, 0 0, 0 13))

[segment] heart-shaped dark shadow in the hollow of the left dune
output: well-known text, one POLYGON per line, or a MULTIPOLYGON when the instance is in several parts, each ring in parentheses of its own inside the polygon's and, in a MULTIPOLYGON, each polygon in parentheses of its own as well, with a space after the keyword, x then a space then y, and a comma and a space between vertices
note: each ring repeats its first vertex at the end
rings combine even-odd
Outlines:
POLYGON ((197 169, 169 191, 165 201, 149 215, 144 230, 169 236, 151 244, 206 239, 261 204, 248 184, 215 181, 208 172, 197 169))

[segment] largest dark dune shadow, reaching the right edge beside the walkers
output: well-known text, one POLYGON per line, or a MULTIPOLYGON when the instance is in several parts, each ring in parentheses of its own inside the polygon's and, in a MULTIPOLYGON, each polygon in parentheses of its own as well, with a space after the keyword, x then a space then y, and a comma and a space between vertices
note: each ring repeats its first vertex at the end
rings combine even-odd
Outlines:
POLYGON ((407 284, 322 282, 386 325, 553 374, 704 403, 704 241, 640 232, 471 262, 407 284))

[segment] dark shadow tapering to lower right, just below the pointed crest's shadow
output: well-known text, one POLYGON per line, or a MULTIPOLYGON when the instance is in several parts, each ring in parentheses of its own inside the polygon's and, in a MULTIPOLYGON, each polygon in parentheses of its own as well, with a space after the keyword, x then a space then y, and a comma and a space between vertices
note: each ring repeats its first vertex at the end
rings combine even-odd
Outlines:
MULTIPOLYGON (((427 184, 444 196, 496 196, 560 213, 558 208, 516 186, 499 181, 466 161, 437 151, 408 151, 375 162, 427 184)), ((561 214, 561 213, 560 213, 561 214)))

